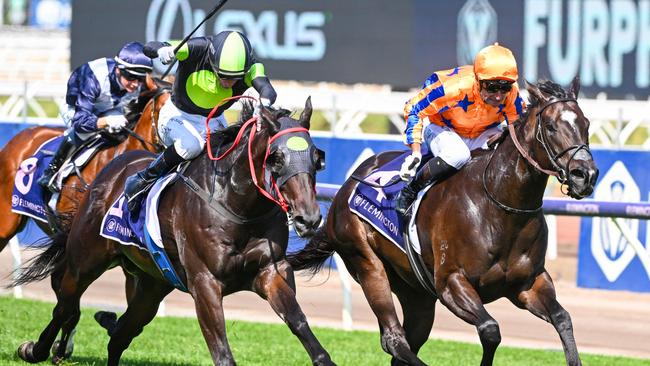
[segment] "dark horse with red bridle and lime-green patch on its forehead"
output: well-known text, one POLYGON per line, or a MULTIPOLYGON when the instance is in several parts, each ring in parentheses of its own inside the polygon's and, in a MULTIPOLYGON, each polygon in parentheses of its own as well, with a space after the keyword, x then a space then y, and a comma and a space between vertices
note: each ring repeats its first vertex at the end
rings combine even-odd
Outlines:
MULTIPOLYGON (((255 123, 256 118, 250 118, 252 109, 244 104, 241 115, 244 121, 249 118, 246 123, 211 135, 207 144, 211 148, 194 159, 163 193, 158 214, 164 248, 194 298, 215 364, 235 364, 226 338, 222 298, 250 290, 269 302, 300 339, 314 365, 330 365, 329 354, 296 301, 293 270, 285 259, 287 215, 302 236, 312 235, 322 220, 315 174, 324 164, 324 155, 308 132, 311 100, 307 99, 299 120, 291 118, 287 110, 262 108, 261 121, 255 123), (221 141, 220 146, 230 145, 215 158, 218 161, 211 160, 211 151, 219 150, 215 141, 221 141), (265 169, 270 177, 265 178, 265 169)), ((82 293, 113 266, 128 270, 136 278, 136 286, 119 319, 111 319, 106 312, 96 314, 110 335, 108 365, 119 363, 132 339, 154 318, 159 303, 174 289, 149 253, 99 235, 104 213, 122 193, 125 179, 151 160, 151 154, 144 151, 128 152, 107 165, 84 197, 67 243, 55 242, 48 249, 57 252, 50 256, 58 258, 55 268, 36 261, 35 265, 47 267, 45 271, 61 270, 63 276, 53 318, 37 342, 19 347, 22 359, 47 359, 59 329, 69 331, 77 324, 82 293)), ((62 351, 58 349, 57 356, 62 356, 62 351)))

